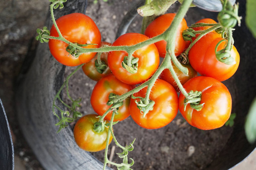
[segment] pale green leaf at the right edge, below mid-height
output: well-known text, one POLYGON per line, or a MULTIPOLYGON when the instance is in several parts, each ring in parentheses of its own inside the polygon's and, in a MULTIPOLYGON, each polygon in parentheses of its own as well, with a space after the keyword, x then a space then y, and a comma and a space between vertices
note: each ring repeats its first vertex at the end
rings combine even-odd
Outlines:
POLYGON ((256 98, 251 103, 245 120, 245 135, 249 143, 256 141, 256 98))

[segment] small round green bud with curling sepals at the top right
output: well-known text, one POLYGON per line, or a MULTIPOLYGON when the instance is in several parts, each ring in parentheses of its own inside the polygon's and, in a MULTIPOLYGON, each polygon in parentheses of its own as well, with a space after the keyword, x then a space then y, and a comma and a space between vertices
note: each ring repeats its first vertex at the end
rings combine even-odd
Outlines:
POLYGON ((238 23, 238 26, 241 24, 241 16, 238 16, 238 5, 234 6, 225 0, 221 0, 223 5, 223 10, 221 10, 217 16, 220 24, 225 28, 233 28, 238 23))

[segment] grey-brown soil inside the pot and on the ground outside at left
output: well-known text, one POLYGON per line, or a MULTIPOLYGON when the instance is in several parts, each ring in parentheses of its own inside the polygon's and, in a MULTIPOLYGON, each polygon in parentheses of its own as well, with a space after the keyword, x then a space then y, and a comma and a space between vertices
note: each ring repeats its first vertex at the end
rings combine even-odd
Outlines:
MULTIPOLYGON (((102 40, 113 42, 118 25, 136 2, 139 1, 108 0, 108 2, 103 2, 99 0, 94 4, 91 0, 86 14, 98 25, 102 40)), ((16 76, 20 72, 24 58, 31 55, 31 48, 33 49, 37 44, 33 41, 35 30, 43 26, 47 12, 49 12, 49 3, 47 0, 31 0, 1 4, 6 5, 0 7, 1 16, 9 18, 5 20, 1 18, 3 24, 0 25, 0 97, 12 129, 15 155, 22 160, 26 169, 44 169, 33 155, 20 131, 12 102, 14 101, 16 76)), ((177 6, 178 4, 171 7, 169 12, 175 12, 177 6)), ((188 25, 203 18, 193 8, 189 12, 190 15, 186 16, 188 25)), ((140 25, 141 17, 137 16, 128 32, 140 32, 140 25)), ((72 70, 74 70, 73 67, 66 67, 66 75, 72 70)), ((70 80, 70 95, 74 98, 82 97, 80 111, 83 114, 94 113, 90 106, 90 94, 95 83, 87 78, 82 70, 79 70, 70 80)), ((232 91, 231 86, 228 88, 232 91)), ((67 100, 65 93, 64 99, 67 100)), ((156 130, 140 128, 131 117, 114 126, 114 133, 121 145, 129 145, 136 138, 135 149, 129 153, 129 158, 135 160, 133 169, 145 170, 203 169, 225 146, 231 132, 232 128, 226 126, 210 131, 196 129, 188 125, 180 113, 169 125, 156 130)), ((115 153, 121 152, 119 148, 115 148, 114 142, 111 143, 110 149, 115 149, 115 153)), ((95 152, 93 155, 103 161, 104 151, 95 152)), ((120 163, 121 160, 114 154, 112 161, 120 163)))

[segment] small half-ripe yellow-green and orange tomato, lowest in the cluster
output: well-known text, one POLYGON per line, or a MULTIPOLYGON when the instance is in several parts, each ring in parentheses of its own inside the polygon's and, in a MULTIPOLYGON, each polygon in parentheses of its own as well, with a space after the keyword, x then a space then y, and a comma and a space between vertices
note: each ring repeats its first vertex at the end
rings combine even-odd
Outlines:
MULTIPOLYGON (((97 114, 87 114, 81 117, 74 127, 74 139, 77 145, 85 151, 98 152, 106 148, 108 128, 97 133, 94 123, 99 121, 97 114)), ((110 136, 109 143, 112 141, 110 136)))

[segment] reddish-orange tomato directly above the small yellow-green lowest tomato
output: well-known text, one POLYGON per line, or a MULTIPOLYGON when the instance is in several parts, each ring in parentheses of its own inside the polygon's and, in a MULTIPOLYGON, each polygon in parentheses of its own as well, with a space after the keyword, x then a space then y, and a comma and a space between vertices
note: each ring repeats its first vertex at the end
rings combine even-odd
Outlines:
MULTIPOLYGON (((108 74, 100 79, 91 94, 91 106, 94 111, 102 116, 111 106, 107 105, 108 96, 111 93, 123 95, 132 90, 132 86, 120 82, 113 74, 108 74)), ((130 115, 129 112, 130 98, 124 100, 124 104, 118 109, 118 114, 115 115, 114 121, 122 121, 130 115)), ((112 111, 105 117, 106 120, 111 120, 112 111)))

